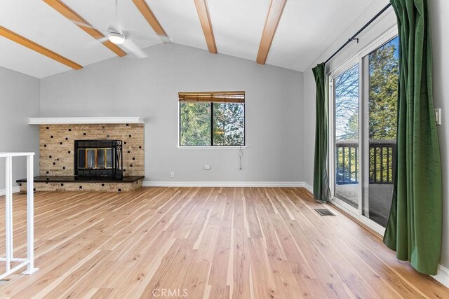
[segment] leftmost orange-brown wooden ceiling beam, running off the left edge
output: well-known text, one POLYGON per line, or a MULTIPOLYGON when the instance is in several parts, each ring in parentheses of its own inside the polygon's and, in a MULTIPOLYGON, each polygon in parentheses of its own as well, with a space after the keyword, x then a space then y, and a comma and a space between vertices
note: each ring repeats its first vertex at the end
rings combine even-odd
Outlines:
POLYGON ((68 60, 65 57, 62 57, 58 53, 53 52, 52 50, 49 50, 38 43, 34 43, 34 41, 30 41, 29 39, 25 38, 24 36, 21 36, 19 34, 16 34, 15 32, 12 32, 9 29, 6 29, 3 26, 0 26, 0 36, 6 37, 6 39, 10 39, 11 41, 14 41, 15 43, 19 43, 22 46, 25 46, 31 50, 36 51, 37 53, 40 53, 42 55, 45 55, 46 57, 51 58, 52 60, 55 60, 57 62, 60 62, 62 64, 67 65, 67 67, 71 67, 72 69, 82 69, 81 65, 77 64, 76 62, 73 62, 72 60, 68 60))

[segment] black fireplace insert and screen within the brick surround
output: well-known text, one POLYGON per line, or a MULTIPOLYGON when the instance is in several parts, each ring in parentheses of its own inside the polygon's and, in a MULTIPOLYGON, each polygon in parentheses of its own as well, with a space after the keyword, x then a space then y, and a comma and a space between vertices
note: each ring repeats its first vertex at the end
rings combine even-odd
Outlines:
POLYGON ((74 175, 123 178, 121 140, 75 140, 74 175))

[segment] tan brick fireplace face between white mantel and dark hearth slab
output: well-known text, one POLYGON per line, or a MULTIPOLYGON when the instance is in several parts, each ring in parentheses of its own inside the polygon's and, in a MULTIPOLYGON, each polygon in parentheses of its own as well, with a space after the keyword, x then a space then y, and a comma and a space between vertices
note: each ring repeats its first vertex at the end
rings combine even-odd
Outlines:
POLYGON ((74 175, 74 141, 123 141, 123 176, 145 175, 144 124, 39 125, 41 176, 74 175))

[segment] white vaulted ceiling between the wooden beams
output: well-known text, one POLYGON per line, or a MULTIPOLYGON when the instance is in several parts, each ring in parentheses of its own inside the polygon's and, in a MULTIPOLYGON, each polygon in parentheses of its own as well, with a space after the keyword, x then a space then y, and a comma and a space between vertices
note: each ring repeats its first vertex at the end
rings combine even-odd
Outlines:
MULTIPOLYGON (((269 1, 208 0, 218 53, 255 61, 269 1)), ((304 71, 373 1, 287 0, 267 64, 304 71)), ((63 2, 102 32, 114 20, 114 0, 63 2)), ((161 43, 131 0, 118 3, 119 22, 140 48, 161 43)), ((193 0, 147 4, 174 43, 207 50, 193 0)), ((83 66, 116 57, 41 0, 0 0, 0 25, 83 66)), ((36 78, 71 70, 3 36, 0 66, 36 78)))

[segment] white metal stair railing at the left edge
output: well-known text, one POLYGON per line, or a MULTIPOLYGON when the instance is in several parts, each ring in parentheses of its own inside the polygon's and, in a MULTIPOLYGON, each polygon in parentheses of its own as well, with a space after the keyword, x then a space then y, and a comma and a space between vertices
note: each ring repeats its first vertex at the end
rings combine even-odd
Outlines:
POLYGON ((34 181, 33 181, 33 157, 34 153, 0 153, 0 158, 5 158, 5 230, 6 230, 6 257, 0 258, 0 262, 6 262, 6 272, 0 274, 4 279, 9 274, 27 266, 22 274, 32 274, 38 270, 34 268, 34 181), (14 258, 13 250, 13 157, 27 157, 27 258, 14 258), (11 268, 11 263, 19 263, 11 268))

